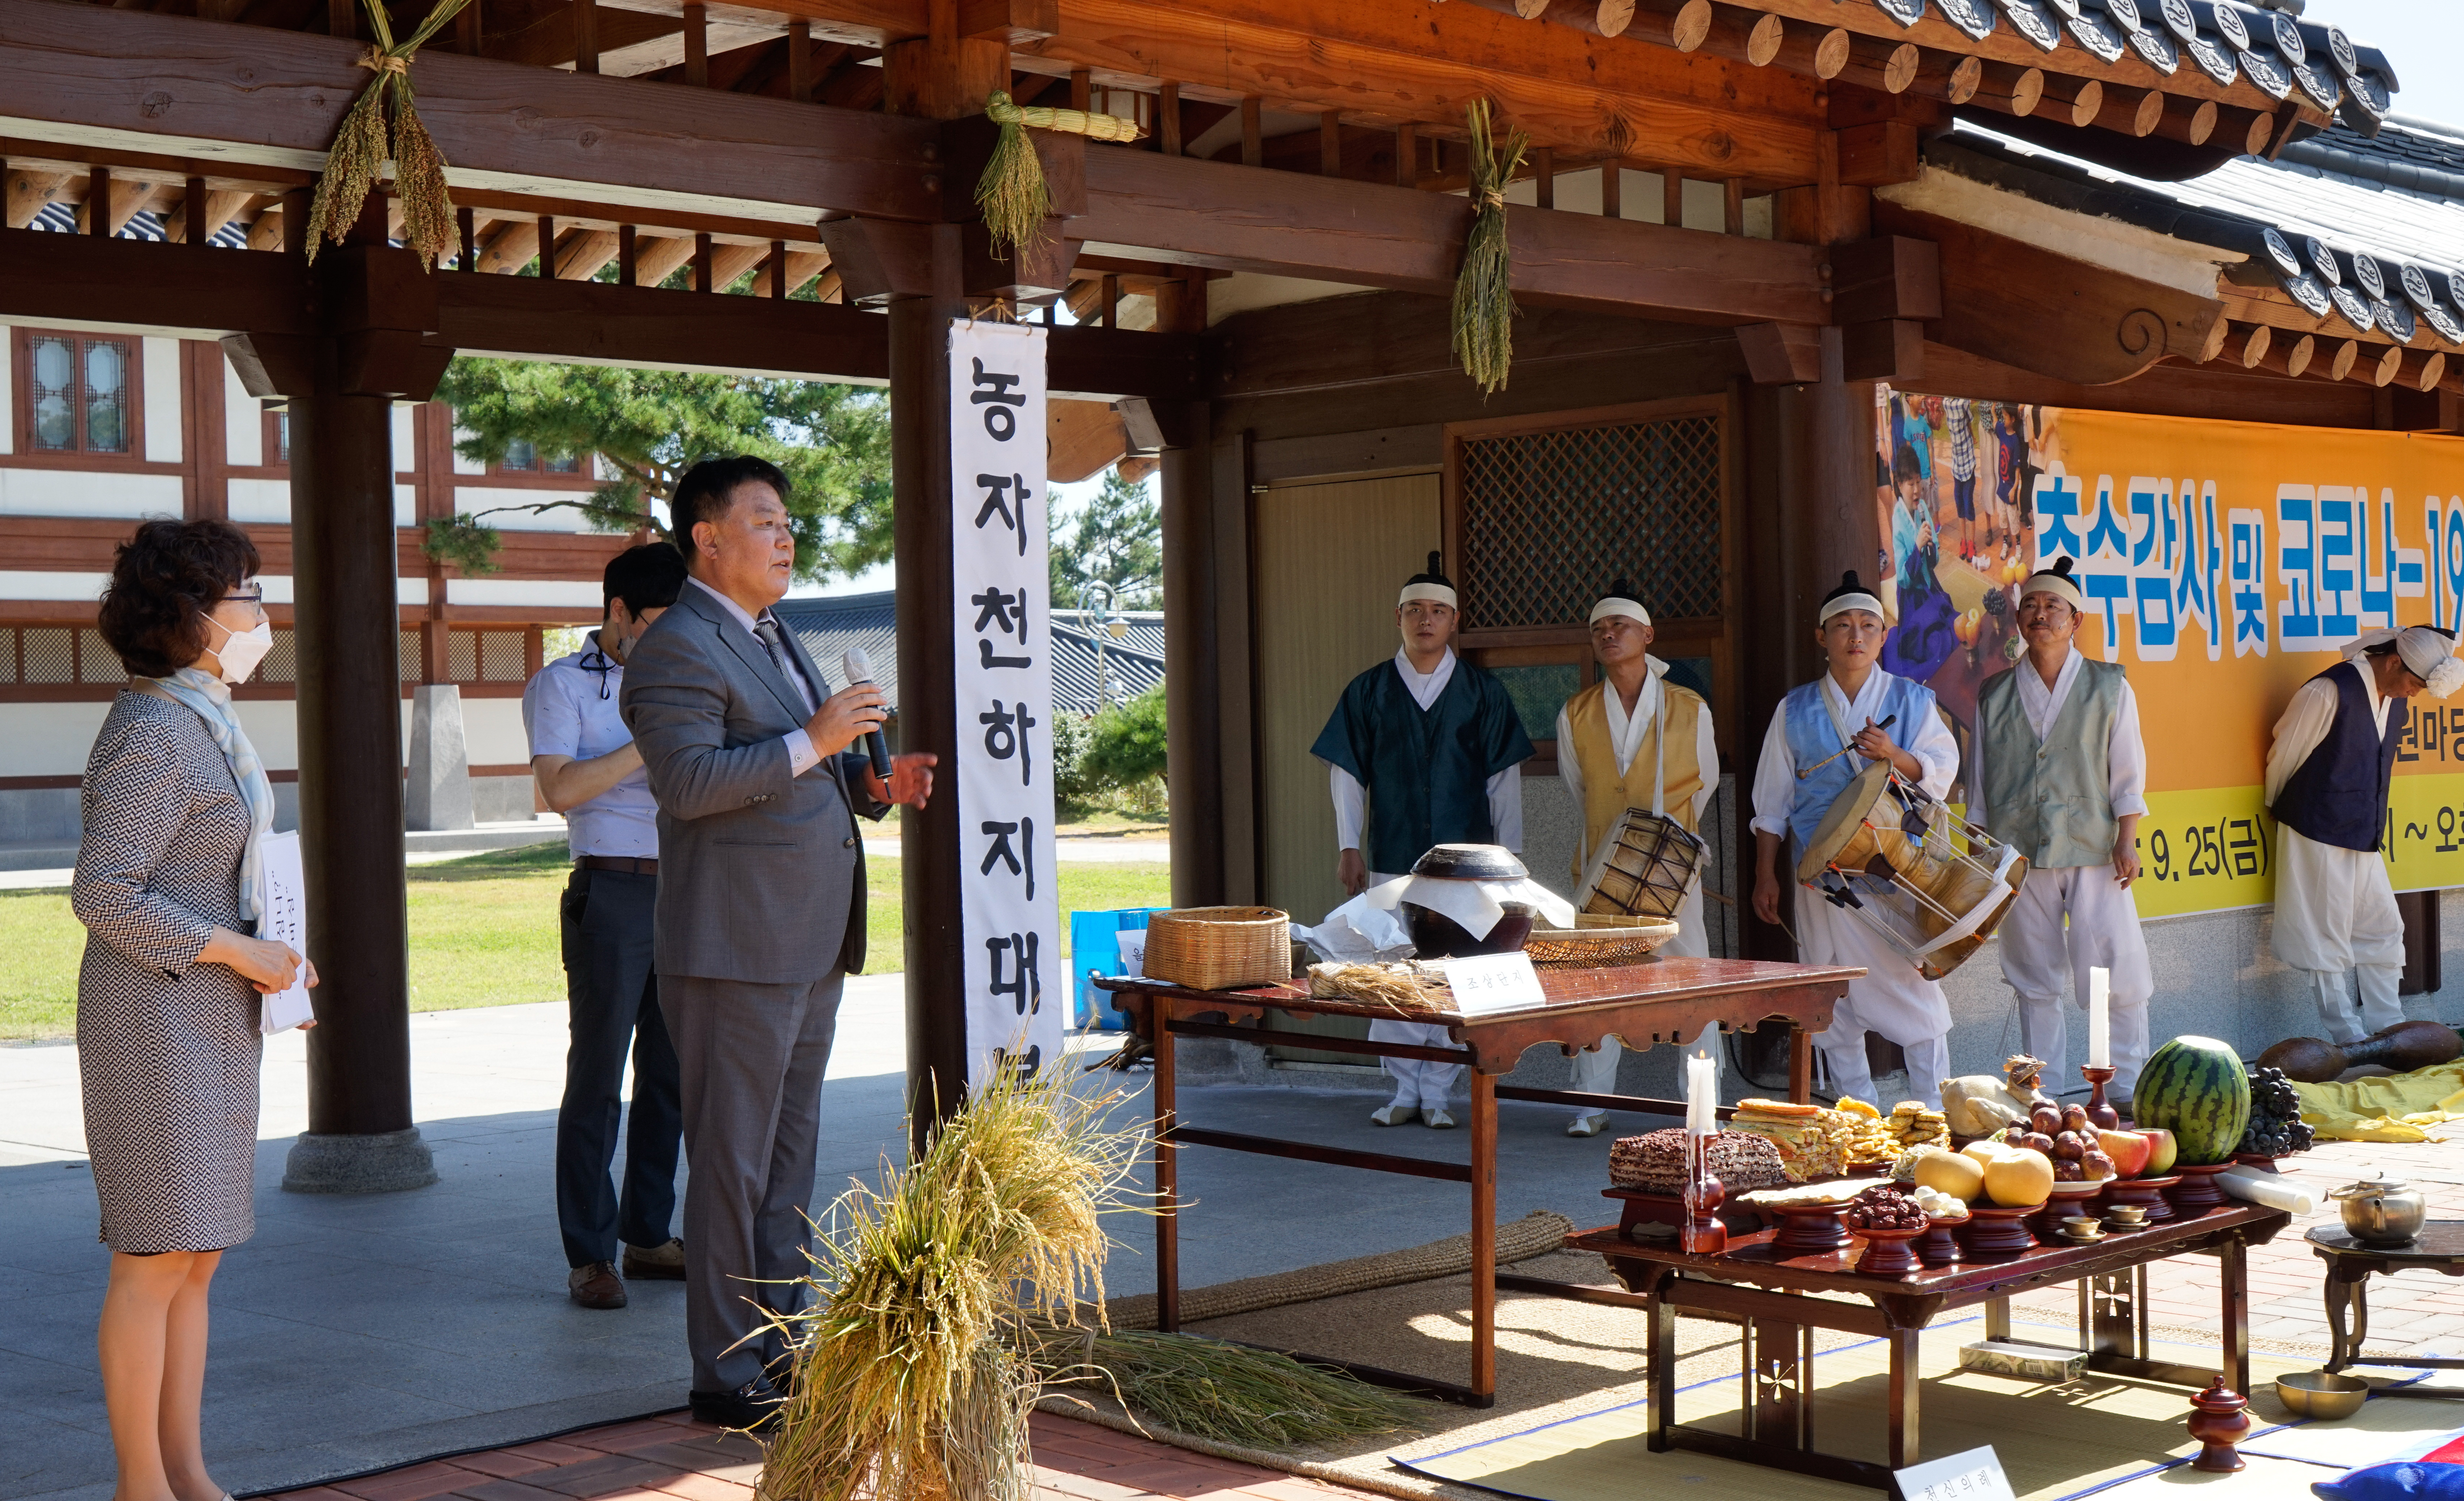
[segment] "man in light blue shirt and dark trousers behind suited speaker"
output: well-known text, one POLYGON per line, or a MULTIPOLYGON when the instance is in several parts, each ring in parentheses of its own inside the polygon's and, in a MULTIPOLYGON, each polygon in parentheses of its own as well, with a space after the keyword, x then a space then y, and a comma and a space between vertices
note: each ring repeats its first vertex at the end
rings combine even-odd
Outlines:
POLYGON ((572 1267, 567 1294, 584 1309, 626 1306, 623 1277, 685 1277, 675 1220, 675 1045, 658 1013, 650 909, 658 902, 658 803, 623 727, 623 658, 685 587, 685 559, 665 542, 609 559, 606 614, 582 651, 522 688, 522 730, 540 796, 564 813, 574 875, 557 914, 564 929, 564 998, 572 1047, 557 1104, 557 1230, 572 1267), (623 1114, 623 1065, 633 1055, 626 1181, 609 1178, 623 1114), (623 1240, 623 1274, 616 1242, 623 1240))

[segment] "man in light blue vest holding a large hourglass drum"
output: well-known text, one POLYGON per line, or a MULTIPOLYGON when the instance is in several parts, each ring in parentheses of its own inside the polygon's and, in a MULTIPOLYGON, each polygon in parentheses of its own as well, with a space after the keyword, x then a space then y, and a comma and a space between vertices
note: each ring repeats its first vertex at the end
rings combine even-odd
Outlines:
MULTIPOLYGON (((1934 693, 1880 668, 1890 633, 1882 601, 1850 572, 1823 596, 1818 621, 1816 641, 1828 670, 1779 702, 1754 764, 1754 914, 1764 922, 1779 922, 1781 843, 1794 838, 1801 850, 1870 762, 1890 762, 1907 784, 1937 799, 1951 791, 1959 771, 1959 744, 1934 710, 1934 693)), ((1951 1062, 1951 1006, 1942 986, 1811 887, 1796 900, 1796 944, 1806 964, 1865 969, 1863 978, 1848 981, 1831 1030, 1814 1040, 1831 1087, 1890 1109, 1890 1102, 1875 1099, 1865 1065, 1865 1033, 1873 1030, 1907 1052, 1910 1097, 1939 1109, 1942 1075, 1951 1062)))

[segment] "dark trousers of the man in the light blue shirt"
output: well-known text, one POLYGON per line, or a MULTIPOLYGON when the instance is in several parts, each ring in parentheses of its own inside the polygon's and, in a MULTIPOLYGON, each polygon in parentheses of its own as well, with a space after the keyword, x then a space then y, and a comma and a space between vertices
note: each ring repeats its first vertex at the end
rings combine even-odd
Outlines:
POLYGON ((655 875, 574 868, 559 902, 572 1050, 557 1107, 557 1230, 564 1262, 614 1262, 626 1245, 668 1245, 683 1139, 675 1043, 658 1011, 650 964, 655 875), (609 1173, 623 1119, 623 1062, 633 1055, 623 1193, 609 1173))

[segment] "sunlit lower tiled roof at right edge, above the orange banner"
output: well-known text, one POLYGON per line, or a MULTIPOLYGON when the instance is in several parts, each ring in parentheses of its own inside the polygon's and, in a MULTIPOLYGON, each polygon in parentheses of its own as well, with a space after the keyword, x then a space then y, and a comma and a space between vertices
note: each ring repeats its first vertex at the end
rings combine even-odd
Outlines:
POLYGON ((2390 121, 2324 131, 2277 160, 2154 182, 1961 121, 1937 168, 2038 202, 2240 251, 2321 330, 2464 350, 2464 131, 2390 121))

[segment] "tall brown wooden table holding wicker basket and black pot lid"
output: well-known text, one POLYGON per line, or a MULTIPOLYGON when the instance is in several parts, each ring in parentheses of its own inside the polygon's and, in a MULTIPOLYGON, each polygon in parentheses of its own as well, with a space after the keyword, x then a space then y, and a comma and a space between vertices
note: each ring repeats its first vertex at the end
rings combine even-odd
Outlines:
MULTIPOLYGON (((1180 1200, 1178 1153, 1183 1146, 1220 1146, 1311 1163, 1404 1173, 1441 1183, 1471 1186, 1471 1383, 1407 1378, 1370 1365, 1311 1356, 1368 1380, 1424 1390, 1473 1407, 1496 1402, 1498 1390, 1498 1289, 1542 1292, 1552 1296, 1619 1296, 1604 1289, 1577 1289, 1542 1277, 1498 1277, 1498 1099, 1535 1099, 1542 1104, 1582 1104, 1683 1117, 1678 1099, 1634 1094, 1579 1094, 1572 1089, 1523 1089, 1498 1084, 1525 1047, 1555 1043, 1570 1057, 1597 1047, 1602 1035, 1616 1035, 1629 1047, 1653 1043, 1690 1043, 1705 1025, 1754 1030, 1764 1023, 1794 1028, 1789 1040, 1789 1099, 1806 1102, 1814 1087, 1811 1035, 1831 1025, 1831 1008, 1848 993, 1848 981, 1865 974, 1853 966, 1767 964, 1754 959, 1656 959, 1619 969, 1542 969, 1540 1006, 1486 1011, 1478 1015, 1432 1013, 1407 1020, 1444 1025, 1454 1047, 1409 1043, 1368 1043, 1360 1038, 1308 1038, 1326 1052, 1365 1057, 1427 1057, 1471 1070, 1471 1163, 1446 1163, 1385 1151, 1353 1151, 1279 1136, 1212 1131, 1183 1126, 1173 1104, 1173 1043, 1178 1038, 1230 1038, 1266 1043, 1259 1030, 1269 1011, 1284 1015, 1358 1015, 1395 1020, 1397 1013, 1360 1001, 1311 998, 1306 981, 1257 986, 1247 991, 1193 991, 1151 978, 1096 978, 1111 991, 1114 1006, 1129 1013, 1131 1028, 1156 1050, 1156 1326, 1180 1328, 1180 1200), (1249 1023, 1249 1025, 1239 1025, 1249 1023)), ((1735 1114, 1722 1109, 1722 1117, 1735 1114)))

